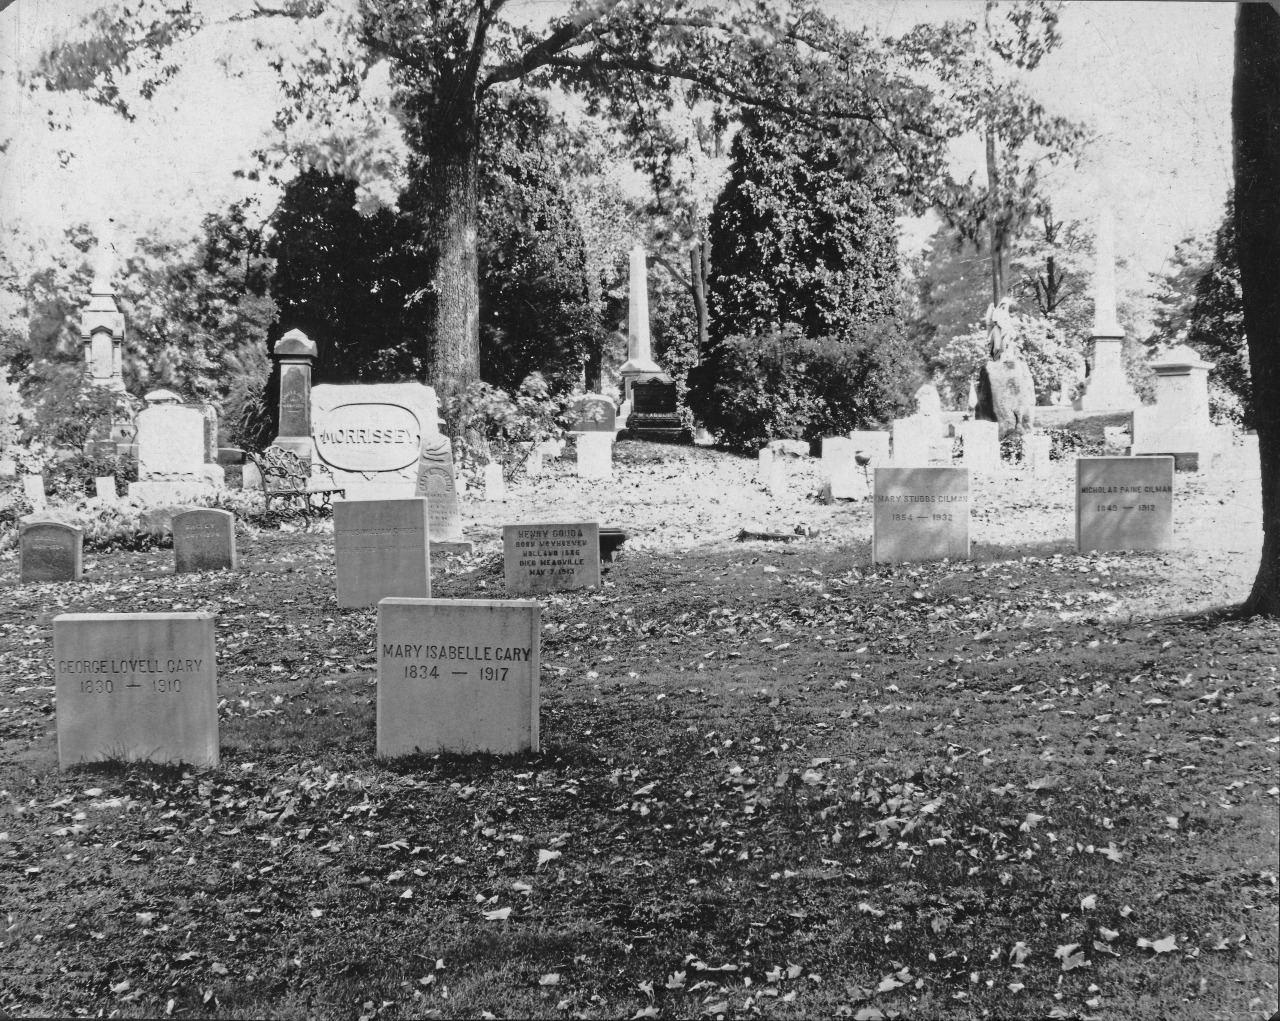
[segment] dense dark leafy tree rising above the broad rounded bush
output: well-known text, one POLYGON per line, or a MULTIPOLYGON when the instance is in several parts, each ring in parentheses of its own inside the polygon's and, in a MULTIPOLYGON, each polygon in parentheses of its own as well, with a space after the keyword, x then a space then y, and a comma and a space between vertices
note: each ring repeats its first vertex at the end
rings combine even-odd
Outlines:
POLYGON ((712 214, 712 340, 840 336, 896 315, 893 200, 874 152, 750 118, 712 214), (858 165, 851 162, 858 160, 858 165))

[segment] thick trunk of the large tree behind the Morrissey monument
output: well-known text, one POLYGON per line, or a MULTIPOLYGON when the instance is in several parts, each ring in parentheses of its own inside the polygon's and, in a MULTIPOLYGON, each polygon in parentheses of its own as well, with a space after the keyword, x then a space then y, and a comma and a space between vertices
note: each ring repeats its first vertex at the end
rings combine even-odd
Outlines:
MULTIPOLYGON (((431 288, 428 376, 445 400, 480 379, 479 142, 476 110, 470 106, 454 124, 433 125, 424 168, 431 288)), ((451 420, 449 425, 460 423, 451 420)))

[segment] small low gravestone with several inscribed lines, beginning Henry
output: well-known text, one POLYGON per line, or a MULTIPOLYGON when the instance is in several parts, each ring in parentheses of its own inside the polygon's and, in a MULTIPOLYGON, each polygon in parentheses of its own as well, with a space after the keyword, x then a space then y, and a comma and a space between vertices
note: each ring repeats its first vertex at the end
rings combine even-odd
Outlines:
POLYGON ((596 521, 502 526, 507 595, 600 587, 596 521))

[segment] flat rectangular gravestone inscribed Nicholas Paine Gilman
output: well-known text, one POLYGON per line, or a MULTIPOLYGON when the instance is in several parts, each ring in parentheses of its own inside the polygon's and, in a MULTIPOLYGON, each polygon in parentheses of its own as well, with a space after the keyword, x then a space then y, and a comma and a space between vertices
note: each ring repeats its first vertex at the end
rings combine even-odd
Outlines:
POLYGON ((1075 459, 1075 548, 1167 549, 1174 544, 1171 457, 1075 459))

